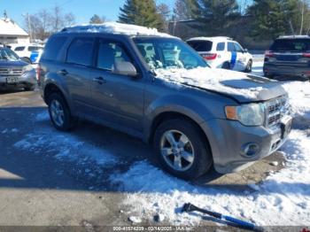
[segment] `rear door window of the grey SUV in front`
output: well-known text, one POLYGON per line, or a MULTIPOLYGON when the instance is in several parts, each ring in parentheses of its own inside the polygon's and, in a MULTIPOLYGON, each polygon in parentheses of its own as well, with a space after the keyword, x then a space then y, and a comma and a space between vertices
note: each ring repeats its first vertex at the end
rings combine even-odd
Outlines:
POLYGON ((92 61, 93 38, 76 38, 66 53, 66 62, 81 66, 90 66, 92 61))

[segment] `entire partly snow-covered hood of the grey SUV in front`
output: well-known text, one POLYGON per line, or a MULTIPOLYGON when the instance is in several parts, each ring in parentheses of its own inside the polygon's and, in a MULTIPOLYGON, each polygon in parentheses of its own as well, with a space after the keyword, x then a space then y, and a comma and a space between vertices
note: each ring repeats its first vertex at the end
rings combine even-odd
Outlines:
POLYGON ((278 81, 224 69, 198 67, 194 69, 157 69, 157 78, 176 86, 205 89, 234 98, 239 103, 266 101, 285 95, 278 81))

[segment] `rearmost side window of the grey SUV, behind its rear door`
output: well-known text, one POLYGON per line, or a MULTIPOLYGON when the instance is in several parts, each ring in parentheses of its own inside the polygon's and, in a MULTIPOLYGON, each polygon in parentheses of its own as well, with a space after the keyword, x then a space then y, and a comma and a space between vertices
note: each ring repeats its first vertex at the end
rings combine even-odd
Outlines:
POLYGON ((64 44, 66 43, 65 36, 54 36, 49 39, 49 42, 46 44, 43 52, 43 59, 46 60, 56 60, 58 54, 64 44))

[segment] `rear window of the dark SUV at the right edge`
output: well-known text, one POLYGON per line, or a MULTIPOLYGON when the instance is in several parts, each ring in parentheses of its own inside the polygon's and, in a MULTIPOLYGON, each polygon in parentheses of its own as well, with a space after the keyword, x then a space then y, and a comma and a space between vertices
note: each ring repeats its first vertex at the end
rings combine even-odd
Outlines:
POLYGON ((310 50, 308 39, 279 39, 271 45, 270 50, 274 51, 307 51, 310 50))

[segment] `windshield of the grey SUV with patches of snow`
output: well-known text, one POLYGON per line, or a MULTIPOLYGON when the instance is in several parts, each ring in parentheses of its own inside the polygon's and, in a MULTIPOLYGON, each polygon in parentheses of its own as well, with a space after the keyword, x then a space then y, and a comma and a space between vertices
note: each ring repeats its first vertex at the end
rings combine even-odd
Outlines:
POLYGON ((171 38, 134 38, 136 46, 151 69, 206 67, 201 58, 189 45, 171 38))

